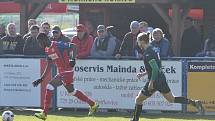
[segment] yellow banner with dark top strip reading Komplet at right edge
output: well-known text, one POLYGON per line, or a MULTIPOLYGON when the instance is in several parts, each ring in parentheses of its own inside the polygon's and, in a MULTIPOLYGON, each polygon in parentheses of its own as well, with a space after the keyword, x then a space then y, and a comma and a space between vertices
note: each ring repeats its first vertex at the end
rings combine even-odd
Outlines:
MULTIPOLYGON (((189 62, 187 96, 201 100, 205 111, 215 111, 215 62, 189 62)), ((188 111, 197 111, 189 106, 188 111)))

